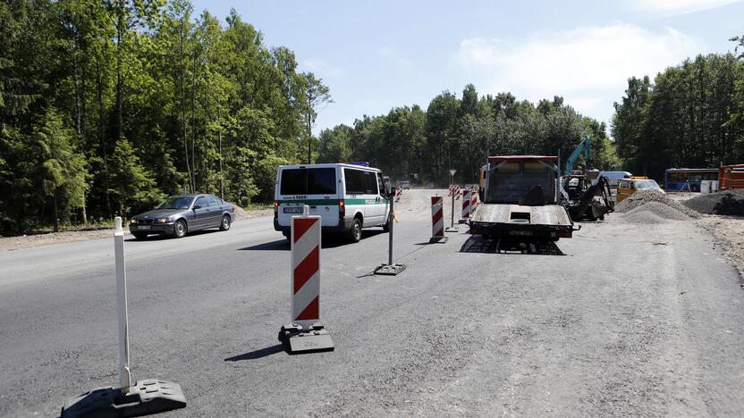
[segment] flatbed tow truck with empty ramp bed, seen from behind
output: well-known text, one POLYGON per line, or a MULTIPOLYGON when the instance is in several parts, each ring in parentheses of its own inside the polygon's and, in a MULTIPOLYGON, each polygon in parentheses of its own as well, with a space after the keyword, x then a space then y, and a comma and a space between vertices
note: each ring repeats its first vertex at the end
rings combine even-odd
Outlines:
POLYGON ((470 233, 531 242, 571 238, 580 227, 560 203, 557 163, 557 156, 488 157, 483 204, 470 216, 470 233))

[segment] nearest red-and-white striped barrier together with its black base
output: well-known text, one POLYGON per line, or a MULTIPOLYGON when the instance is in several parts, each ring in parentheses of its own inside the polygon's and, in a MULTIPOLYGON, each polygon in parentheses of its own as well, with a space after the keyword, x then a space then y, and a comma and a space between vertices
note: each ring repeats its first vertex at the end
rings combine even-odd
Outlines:
POLYGON ((309 210, 304 205, 301 216, 292 216, 292 323, 279 330, 279 341, 291 355, 334 349, 331 334, 318 323, 321 217, 309 210))

